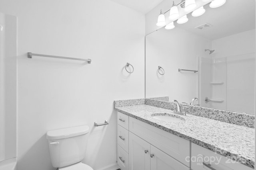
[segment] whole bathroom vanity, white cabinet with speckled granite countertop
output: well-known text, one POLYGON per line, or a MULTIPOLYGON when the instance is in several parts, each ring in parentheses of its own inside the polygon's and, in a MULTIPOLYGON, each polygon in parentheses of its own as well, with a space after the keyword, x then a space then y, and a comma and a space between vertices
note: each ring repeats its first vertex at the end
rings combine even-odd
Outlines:
POLYGON ((177 115, 141 101, 128 103, 115 104, 117 162, 121 170, 254 168, 253 128, 190 114, 177 115), (166 121, 159 118, 162 116, 166 121))

